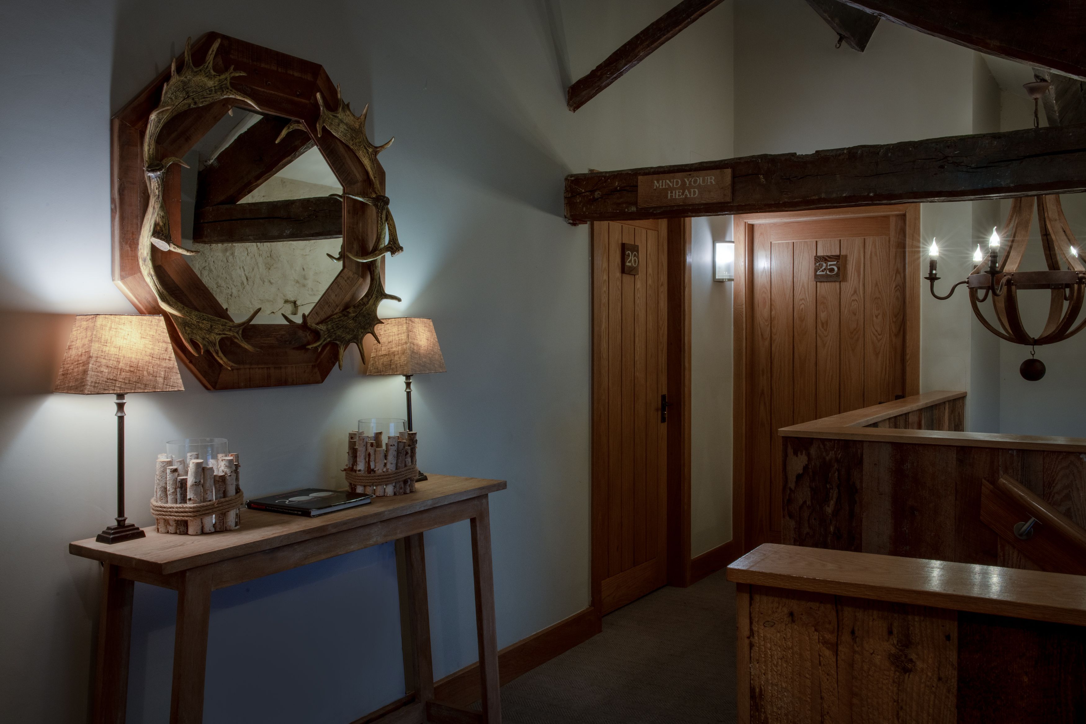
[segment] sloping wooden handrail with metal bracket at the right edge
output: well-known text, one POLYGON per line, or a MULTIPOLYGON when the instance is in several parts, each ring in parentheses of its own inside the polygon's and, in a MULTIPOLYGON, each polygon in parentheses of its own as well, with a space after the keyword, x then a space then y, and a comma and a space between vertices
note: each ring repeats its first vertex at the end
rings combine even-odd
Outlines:
POLYGON ((981 485, 981 520, 1045 571, 1086 575, 1086 531, 1009 475, 981 485), (1014 525, 1034 519, 1026 538, 1014 525))

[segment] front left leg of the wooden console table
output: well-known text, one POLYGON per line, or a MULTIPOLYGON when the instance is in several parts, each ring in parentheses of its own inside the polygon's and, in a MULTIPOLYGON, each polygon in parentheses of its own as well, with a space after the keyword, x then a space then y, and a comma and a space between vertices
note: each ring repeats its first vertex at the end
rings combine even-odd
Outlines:
POLYGON ((179 583, 169 724, 200 724, 203 721, 204 671, 207 665, 211 576, 206 570, 194 568, 179 574, 179 583))

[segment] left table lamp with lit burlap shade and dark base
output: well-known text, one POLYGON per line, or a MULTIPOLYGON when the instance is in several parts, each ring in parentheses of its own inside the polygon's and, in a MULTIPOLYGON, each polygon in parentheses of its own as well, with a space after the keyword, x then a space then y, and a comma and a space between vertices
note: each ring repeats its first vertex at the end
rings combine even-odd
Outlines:
POLYGON ((53 392, 117 396, 117 524, 99 533, 99 543, 121 543, 144 535, 125 518, 125 395, 184 389, 161 316, 75 318, 53 392))

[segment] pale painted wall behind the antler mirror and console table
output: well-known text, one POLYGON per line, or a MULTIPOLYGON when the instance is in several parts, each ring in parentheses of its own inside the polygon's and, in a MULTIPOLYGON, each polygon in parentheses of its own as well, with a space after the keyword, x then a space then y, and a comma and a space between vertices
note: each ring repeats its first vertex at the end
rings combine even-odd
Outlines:
MULTIPOLYGON (((671 4, 0 7, 0 491, 17 511, 0 533, 4 720, 86 715, 99 568, 66 544, 113 515, 113 405, 48 390, 70 315, 131 312, 110 279, 109 117, 211 29, 323 63, 355 109, 371 103, 371 138, 396 137, 381 160, 406 247, 388 288, 404 302, 381 312, 432 317, 449 367, 415 381, 424 468, 509 481, 491 503, 498 644, 589 605, 590 246, 561 218, 563 178, 731 155, 730 11, 576 115, 565 87, 671 4)), ((336 484, 353 421, 403 409, 400 380, 356 366, 352 352, 321 385, 222 393, 182 372, 186 392, 132 395, 131 517, 150 522, 154 454, 179 436, 228 437, 250 495, 336 484)), ((441 676, 475 659, 466 524, 427 546, 441 676)), ((136 596, 129 721, 165 721, 174 595, 136 596)), ((402 693, 389 546, 216 592, 211 625, 207 722, 343 722, 402 693), (254 633, 359 617, 371 625, 313 640, 254 633), (299 671, 324 683, 304 715, 312 698, 280 696, 299 671)))

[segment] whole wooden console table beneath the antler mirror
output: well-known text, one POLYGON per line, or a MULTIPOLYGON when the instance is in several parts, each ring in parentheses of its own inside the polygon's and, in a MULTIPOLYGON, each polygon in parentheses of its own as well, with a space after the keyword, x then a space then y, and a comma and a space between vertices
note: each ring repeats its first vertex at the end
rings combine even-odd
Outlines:
POLYGON ((429 478, 418 483, 413 494, 374 498, 369 505, 319 518, 244 510, 237 531, 187 536, 156 533, 151 526, 143 529, 147 537, 137 541, 105 545, 87 538, 70 544, 73 555, 103 564, 94 724, 125 721, 135 581, 177 592, 169 721, 199 724, 203 720, 212 590, 389 541, 396 542, 407 695, 357 721, 500 724, 489 495, 504 490, 505 481, 429 478), (422 533, 462 520, 471 521, 481 713, 433 700, 422 533))

